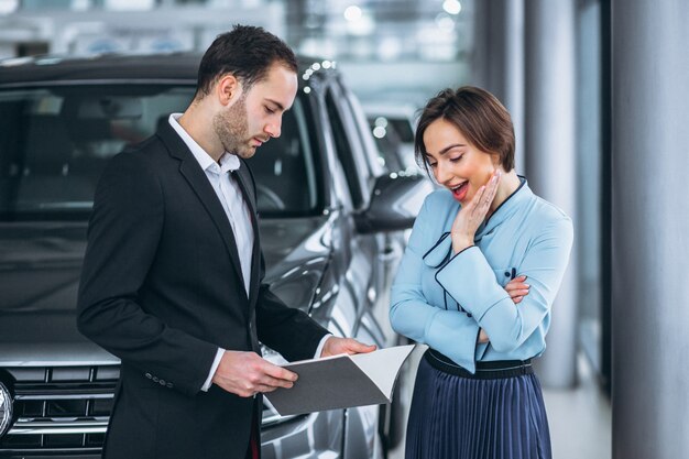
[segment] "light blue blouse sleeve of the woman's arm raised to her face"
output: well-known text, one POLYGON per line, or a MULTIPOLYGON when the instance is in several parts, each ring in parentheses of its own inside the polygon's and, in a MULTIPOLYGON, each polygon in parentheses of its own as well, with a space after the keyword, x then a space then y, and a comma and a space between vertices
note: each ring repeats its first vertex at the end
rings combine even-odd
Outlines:
POLYGON ((445 291, 472 314, 499 352, 518 348, 540 326, 553 305, 567 267, 573 239, 571 220, 550 222, 533 240, 517 271, 526 275, 528 295, 515 305, 497 283, 477 247, 455 255, 436 274, 445 291), (462 282, 458 282, 462 280, 462 282))

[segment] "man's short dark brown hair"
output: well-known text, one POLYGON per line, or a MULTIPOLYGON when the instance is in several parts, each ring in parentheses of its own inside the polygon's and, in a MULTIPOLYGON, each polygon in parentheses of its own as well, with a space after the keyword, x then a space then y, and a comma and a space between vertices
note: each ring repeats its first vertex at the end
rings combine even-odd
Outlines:
POLYGON ((278 63, 296 73, 297 59, 285 42, 263 28, 237 24, 218 35, 206 50, 198 66, 196 98, 210 94, 223 75, 232 74, 249 89, 265 78, 269 68, 278 63))

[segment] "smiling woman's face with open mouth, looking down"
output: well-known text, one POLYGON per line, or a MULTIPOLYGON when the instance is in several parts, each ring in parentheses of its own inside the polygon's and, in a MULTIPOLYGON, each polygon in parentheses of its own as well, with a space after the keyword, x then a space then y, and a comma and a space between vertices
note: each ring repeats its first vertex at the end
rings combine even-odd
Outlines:
POLYGON ((455 124, 442 118, 428 124, 424 145, 436 181, 462 205, 473 198, 499 167, 497 155, 477 149, 455 124))

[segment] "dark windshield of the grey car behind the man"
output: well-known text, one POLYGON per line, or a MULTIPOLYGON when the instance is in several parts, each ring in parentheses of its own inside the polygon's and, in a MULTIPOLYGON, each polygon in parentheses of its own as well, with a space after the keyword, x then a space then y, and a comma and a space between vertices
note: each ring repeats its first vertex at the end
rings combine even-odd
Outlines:
MULTIPOLYGON (((106 162, 184 111, 193 96, 192 86, 132 84, 0 91, 0 219, 85 219, 106 162)), ((295 100, 282 135, 250 161, 264 216, 317 210, 306 118, 295 100)))

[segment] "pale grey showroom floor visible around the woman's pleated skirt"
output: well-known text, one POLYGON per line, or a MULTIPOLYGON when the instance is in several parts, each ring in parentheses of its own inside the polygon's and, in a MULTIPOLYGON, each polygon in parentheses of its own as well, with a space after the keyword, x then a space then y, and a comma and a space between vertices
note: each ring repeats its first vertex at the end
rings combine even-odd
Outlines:
MULTIPOLYGON (((403 371, 414 372, 425 348, 418 347, 403 371)), ((545 390, 555 459, 610 459, 611 407, 586 359, 579 359, 580 383, 573 390, 545 390)), ((404 459, 404 446, 389 459, 404 459)))

